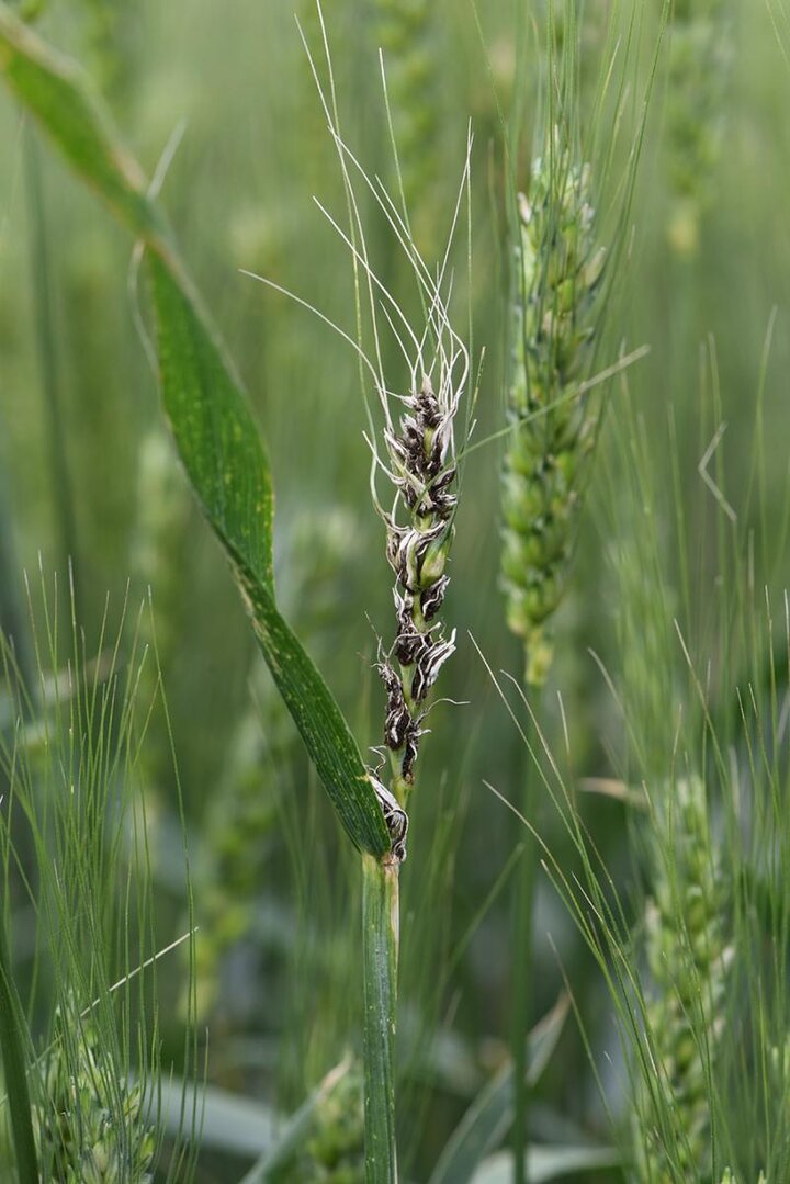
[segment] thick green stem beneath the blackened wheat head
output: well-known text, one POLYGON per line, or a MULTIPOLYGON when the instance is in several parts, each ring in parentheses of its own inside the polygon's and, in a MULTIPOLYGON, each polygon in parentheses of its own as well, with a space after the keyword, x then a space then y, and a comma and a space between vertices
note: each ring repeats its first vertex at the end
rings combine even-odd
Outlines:
POLYGON ((398 1179, 394 1134, 398 870, 396 862, 362 856, 367 1184, 397 1184, 398 1179))

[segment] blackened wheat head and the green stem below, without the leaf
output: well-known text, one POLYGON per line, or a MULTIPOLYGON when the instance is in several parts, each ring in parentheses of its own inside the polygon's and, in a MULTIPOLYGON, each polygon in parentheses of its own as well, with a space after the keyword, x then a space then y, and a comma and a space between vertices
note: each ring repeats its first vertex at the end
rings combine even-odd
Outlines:
MULTIPOLYGON (((464 172, 464 186, 467 176, 464 172)), ((417 275, 420 278, 419 268, 417 275)), ((375 868, 366 861, 364 886, 366 1166, 371 1184, 397 1178, 393 1067, 384 1058, 392 1056, 394 1042, 398 868, 406 857, 406 805, 415 789, 429 695, 455 650, 455 631, 444 636, 439 611, 450 581, 445 567, 457 504, 452 491, 457 471, 455 418, 469 362, 464 345, 450 327, 439 285, 429 288, 428 294, 432 301, 430 321, 420 340, 404 318, 417 356, 410 365, 410 392, 402 398, 404 413, 398 427, 391 418, 384 378, 371 367, 385 417, 385 471, 396 490, 392 508, 385 510, 373 485, 374 506, 386 528, 387 560, 396 573, 397 617, 392 649, 380 655, 378 663, 386 690, 384 745, 390 758, 391 789, 371 771, 392 845, 390 856, 375 862, 375 868), (430 336, 436 340, 436 353, 426 365, 423 350, 430 336), (374 1036, 378 1043, 373 1043, 374 1036), (391 1139, 386 1151, 385 1137, 391 1139)))

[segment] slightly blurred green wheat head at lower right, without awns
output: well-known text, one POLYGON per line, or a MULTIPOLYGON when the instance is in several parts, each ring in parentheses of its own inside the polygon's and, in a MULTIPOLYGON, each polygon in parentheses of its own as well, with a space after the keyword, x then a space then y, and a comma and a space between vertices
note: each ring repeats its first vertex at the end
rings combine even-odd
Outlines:
POLYGON ((646 916, 654 980, 647 1019, 656 1064, 634 1130, 642 1177, 673 1184, 709 1176, 707 1072, 715 1073, 733 948, 725 935, 726 900, 699 777, 677 783, 659 825, 666 845, 657 852, 646 916), (672 1117, 672 1131, 661 1127, 654 1107, 672 1117))

